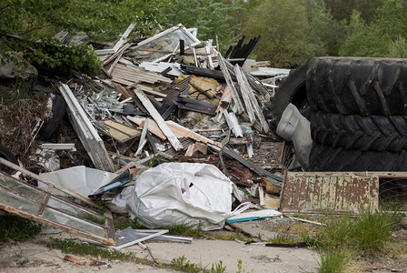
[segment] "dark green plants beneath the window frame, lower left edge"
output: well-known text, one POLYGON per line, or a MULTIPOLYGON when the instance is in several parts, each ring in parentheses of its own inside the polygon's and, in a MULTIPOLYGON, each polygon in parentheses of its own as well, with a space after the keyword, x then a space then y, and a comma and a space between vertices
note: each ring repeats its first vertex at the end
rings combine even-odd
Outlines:
POLYGON ((41 231, 41 225, 23 217, 0 217, 0 243, 25 241, 41 231))

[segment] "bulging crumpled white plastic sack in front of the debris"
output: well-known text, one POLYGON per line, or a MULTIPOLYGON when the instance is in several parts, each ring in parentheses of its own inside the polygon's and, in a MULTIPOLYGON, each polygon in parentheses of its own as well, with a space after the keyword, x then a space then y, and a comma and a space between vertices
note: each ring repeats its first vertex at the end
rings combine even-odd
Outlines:
POLYGON ((232 182, 213 165, 164 163, 137 177, 127 207, 150 228, 201 222, 218 229, 231 214, 232 182))

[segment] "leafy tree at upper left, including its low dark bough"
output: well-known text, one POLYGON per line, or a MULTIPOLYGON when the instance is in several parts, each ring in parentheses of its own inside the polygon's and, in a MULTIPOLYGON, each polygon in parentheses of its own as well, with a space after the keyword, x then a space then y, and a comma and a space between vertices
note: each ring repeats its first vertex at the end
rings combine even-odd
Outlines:
POLYGON ((164 0, 3 0, 0 55, 16 62, 10 52, 21 51, 30 62, 64 69, 97 66, 86 45, 60 46, 50 37, 64 29, 115 39, 130 23, 146 33, 151 23, 163 21, 166 5, 164 0))

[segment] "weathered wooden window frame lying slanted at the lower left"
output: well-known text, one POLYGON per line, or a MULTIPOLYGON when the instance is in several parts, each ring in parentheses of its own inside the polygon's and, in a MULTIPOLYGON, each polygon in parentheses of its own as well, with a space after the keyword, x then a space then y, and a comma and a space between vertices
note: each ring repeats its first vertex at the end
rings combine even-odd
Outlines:
POLYGON ((0 172, 0 178, 1 178, 0 183, 2 184, 2 185, 0 185, 0 191, 3 191, 4 195, 8 195, 11 197, 15 197, 15 198, 24 200, 26 202, 26 204, 31 204, 33 207, 34 206, 39 207, 37 213, 33 214, 33 213, 26 211, 27 209, 23 209, 21 207, 14 207, 12 204, 7 204, 5 202, 5 199, 0 198, 0 209, 3 209, 9 213, 13 213, 19 217, 25 217, 25 218, 34 220, 35 222, 44 224, 46 226, 55 227, 55 228, 64 230, 65 232, 74 234, 75 236, 94 240, 96 242, 103 243, 105 245, 111 245, 111 246, 115 245, 114 223, 113 223, 112 213, 110 212, 110 210, 108 210, 107 208, 104 208, 104 215, 99 214, 99 213, 93 211, 92 209, 79 205, 80 202, 84 202, 88 206, 92 207, 94 210, 97 210, 98 209, 97 205, 89 198, 80 196, 74 192, 66 190, 64 187, 57 186, 57 185, 53 184, 52 182, 46 180, 45 178, 39 177, 39 176, 35 175, 34 173, 26 170, 23 167, 16 166, 15 164, 5 160, 4 158, 0 158, 0 164, 4 165, 6 167, 14 168, 15 170, 22 172, 26 176, 33 177, 36 180, 39 180, 48 186, 48 188, 46 190, 43 190, 38 187, 34 187, 19 178, 11 177, 9 175, 6 175, 3 172, 0 172), (7 183, 6 180, 9 180, 9 181, 12 180, 13 183, 18 184, 21 187, 28 188, 32 192, 41 193, 43 195, 42 200, 37 200, 32 197, 27 197, 27 196, 25 196, 25 194, 18 191, 18 189, 16 189, 15 187, 9 187, 9 186, 7 187, 7 185, 5 185, 7 183), (56 196, 55 191, 63 192, 66 196, 74 198, 74 202, 68 201, 68 200, 65 200, 65 198, 56 196), (67 212, 66 210, 64 210, 61 207, 53 206, 53 205, 49 204, 50 199, 56 200, 65 206, 72 207, 74 209, 74 211, 83 211, 84 213, 86 213, 90 216, 104 218, 104 226, 91 222, 90 220, 87 220, 84 217, 80 217, 78 215, 74 215, 73 213, 67 212), (72 219, 77 222, 81 222, 84 224, 84 227, 86 227, 87 229, 92 229, 92 228, 103 229, 104 237, 95 235, 91 232, 85 231, 84 229, 81 230, 76 227, 69 227, 65 224, 58 222, 57 220, 53 221, 52 219, 45 218, 44 214, 45 214, 46 210, 51 210, 51 212, 55 211, 57 214, 62 214, 63 217, 72 219))

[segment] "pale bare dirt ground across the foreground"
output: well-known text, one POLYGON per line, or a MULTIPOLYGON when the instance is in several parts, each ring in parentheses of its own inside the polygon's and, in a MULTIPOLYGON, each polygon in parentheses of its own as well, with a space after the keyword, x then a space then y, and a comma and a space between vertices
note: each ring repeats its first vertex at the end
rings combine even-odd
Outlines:
MULTIPOLYGON (((277 233, 287 233, 293 237, 301 232, 313 233, 319 228, 312 224, 299 223, 289 218, 266 218, 238 224, 244 230, 263 240, 273 238, 277 233)), ((407 229, 397 231, 397 238, 407 238, 407 229)), ((220 235, 226 231, 213 233, 220 235)), ((134 262, 112 261, 91 258, 104 262, 99 266, 78 266, 64 260, 65 253, 46 248, 40 244, 46 238, 73 238, 59 230, 44 228, 34 240, 0 247, 0 272, 175 272, 168 268, 154 268, 134 262)), ((217 237, 217 236, 213 236, 217 237)), ((238 240, 215 238, 194 238, 191 244, 170 242, 145 243, 153 257, 164 263, 173 258, 185 257, 201 268, 211 269, 214 263, 222 260, 225 272, 237 272, 238 259, 242 260, 241 272, 317 272, 319 255, 309 248, 271 248, 261 245, 245 245, 238 240)), ((403 245, 405 246, 405 244, 403 245)), ((124 252, 133 252, 138 258, 152 259, 146 250, 139 246, 124 248, 124 252)), ((360 258, 349 272, 407 272, 406 251, 394 249, 392 255, 384 258, 360 258)), ((78 257, 78 256, 76 256, 78 257)))

